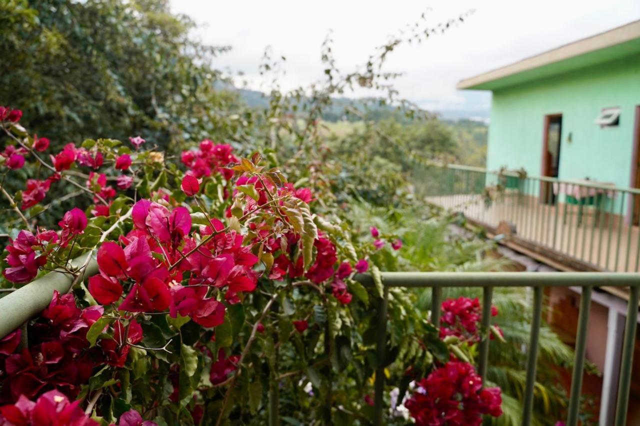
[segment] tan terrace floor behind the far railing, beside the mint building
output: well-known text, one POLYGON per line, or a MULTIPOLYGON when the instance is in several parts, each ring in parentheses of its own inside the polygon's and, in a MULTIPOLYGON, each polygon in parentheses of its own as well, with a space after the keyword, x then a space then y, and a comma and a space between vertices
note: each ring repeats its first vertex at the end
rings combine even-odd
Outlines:
POLYGON ((603 271, 637 272, 640 267, 640 230, 616 214, 584 207, 579 223, 576 205, 549 205, 537 197, 504 196, 486 205, 483 196, 460 194, 428 196, 430 203, 461 212, 486 225, 508 221, 518 237, 591 264, 603 271))

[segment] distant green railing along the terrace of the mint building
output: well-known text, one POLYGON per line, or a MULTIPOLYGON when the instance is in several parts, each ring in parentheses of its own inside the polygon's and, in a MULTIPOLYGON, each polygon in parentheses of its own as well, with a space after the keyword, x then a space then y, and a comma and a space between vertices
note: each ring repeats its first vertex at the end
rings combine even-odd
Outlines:
POLYGON ((640 190, 588 180, 529 177, 449 164, 417 164, 416 193, 481 225, 566 255, 584 270, 640 270, 640 190))

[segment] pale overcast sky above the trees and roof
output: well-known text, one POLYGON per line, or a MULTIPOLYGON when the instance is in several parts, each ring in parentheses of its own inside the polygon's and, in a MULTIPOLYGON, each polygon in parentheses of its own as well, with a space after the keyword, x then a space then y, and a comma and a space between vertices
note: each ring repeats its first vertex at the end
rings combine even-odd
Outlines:
POLYGON ((282 88, 294 88, 322 77, 321 44, 330 30, 337 67, 349 71, 422 12, 435 26, 475 10, 460 26, 401 47, 388 60, 387 71, 404 73, 396 81, 400 96, 435 110, 488 107, 487 95, 464 96, 456 83, 640 19, 639 0, 170 1, 173 12, 200 24, 195 36, 203 42, 232 46, 216 67, 243 72, 259 90, 268 90, 258 74, 268 46, 287 58, 282 88))

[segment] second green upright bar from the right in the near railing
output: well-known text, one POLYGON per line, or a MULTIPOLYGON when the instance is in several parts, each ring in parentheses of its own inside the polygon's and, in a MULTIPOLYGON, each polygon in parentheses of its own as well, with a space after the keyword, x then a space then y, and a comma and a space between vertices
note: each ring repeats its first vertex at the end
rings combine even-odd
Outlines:
MULTIPOLYGON (((584 370, 584 355, 587 347, 587 327, 589 326, 589 312, 591 311, 591 292, 593 288, 582 287, 580 297, 580 312, 578 313, 578 329, 576 331, 575 356, 573 358, 573 373, 571 376, 571 393, 569 397, 568 426, 578 425, 580 411, 580 392, 582 391, 582 374, 584 370)), ((636 304, 637 306, 637 304, 636 304)))

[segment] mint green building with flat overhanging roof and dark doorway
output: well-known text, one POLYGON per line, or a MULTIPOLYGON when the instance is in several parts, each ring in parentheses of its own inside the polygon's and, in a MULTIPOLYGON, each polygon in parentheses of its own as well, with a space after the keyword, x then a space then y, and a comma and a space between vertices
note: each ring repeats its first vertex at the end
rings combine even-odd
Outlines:
POLYGON ((493 93, 488 170, 640 187, 640 20, 457 87, 493 93))

